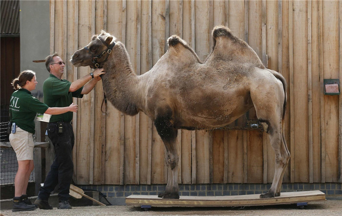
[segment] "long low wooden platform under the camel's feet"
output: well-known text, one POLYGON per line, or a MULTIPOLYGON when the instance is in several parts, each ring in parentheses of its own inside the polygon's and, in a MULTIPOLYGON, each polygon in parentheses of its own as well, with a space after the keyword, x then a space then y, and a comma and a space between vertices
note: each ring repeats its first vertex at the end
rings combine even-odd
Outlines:
POLYGON ((157 195, 129 195, 126 197, 126 204, 131 206, 149 205, 151 207, 224 207, 325 201, 325 194, 321 191, 284 192, 278 197, 266 199, 260 199, 259 195, 180 196, 179 199, 162 199, 158 198, 157 195))

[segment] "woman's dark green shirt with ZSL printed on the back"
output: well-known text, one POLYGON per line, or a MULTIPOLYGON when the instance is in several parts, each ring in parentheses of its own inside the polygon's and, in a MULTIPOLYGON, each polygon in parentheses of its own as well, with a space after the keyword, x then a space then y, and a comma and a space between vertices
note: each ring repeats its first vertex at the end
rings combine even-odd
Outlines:
POLYGON ((9 110, 11 122, 22 130, 35 133, 34 119, 37 112, 44 113, 49 107, 35 98, 30 91, 20 88, 13 92, 10 99, 9 110))

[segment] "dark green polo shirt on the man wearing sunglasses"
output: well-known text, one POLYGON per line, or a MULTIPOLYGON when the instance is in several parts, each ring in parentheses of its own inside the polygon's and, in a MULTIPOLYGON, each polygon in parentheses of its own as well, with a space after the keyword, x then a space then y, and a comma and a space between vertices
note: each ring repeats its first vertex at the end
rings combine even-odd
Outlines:
MULTIPOLYGON (((43 95, 44 103, 49 107, 69 107, 72 98, 82 98, 83 87, 74 92, 69 92, 71 83, 67 80, 60 80, 56 76, 50 74, 49 78, 44 81, 43 95)), ((59 115, 52 115, 50 122, 70 122, 72 120, 72 112, 65 112, 59 115)))

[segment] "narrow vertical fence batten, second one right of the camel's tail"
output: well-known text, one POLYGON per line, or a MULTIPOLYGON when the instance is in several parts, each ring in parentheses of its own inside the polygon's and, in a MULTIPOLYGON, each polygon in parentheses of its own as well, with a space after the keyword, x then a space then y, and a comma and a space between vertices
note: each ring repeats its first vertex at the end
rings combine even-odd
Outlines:
POLYGON ((309 139, 309 182, 314 182, 313 170, 313 141, 312 141, 312 53, 311 53, 311 0, 307 4, 307 22, 308 22, 308 139, 309 139))

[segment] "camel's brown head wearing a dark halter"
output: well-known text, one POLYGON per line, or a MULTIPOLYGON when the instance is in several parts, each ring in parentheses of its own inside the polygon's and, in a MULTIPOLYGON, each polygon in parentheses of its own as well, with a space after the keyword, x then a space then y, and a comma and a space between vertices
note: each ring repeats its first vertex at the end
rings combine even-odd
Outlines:
POLYGON ((91 38, 91 42, 87 46, 77 50, 72 55, 70 59, 71 64, 76 67, 102 67, 102 64, 107 61, 115 45, 115 40, 115 37, 102 30, 100 35, 94 35, 91 38))

